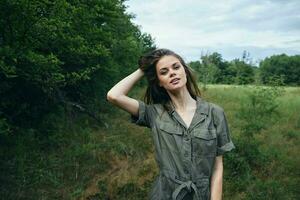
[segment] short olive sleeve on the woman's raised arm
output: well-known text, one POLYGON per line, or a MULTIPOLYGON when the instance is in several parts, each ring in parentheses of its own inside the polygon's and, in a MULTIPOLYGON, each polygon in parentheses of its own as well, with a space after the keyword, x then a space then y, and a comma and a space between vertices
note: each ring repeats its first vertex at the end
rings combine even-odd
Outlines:
POLYGON ((153 118, 153 105, 146 105, 141 100, 137 101, 139 102, 139 116, 131 115, 131 123, 150 128, 153 118))

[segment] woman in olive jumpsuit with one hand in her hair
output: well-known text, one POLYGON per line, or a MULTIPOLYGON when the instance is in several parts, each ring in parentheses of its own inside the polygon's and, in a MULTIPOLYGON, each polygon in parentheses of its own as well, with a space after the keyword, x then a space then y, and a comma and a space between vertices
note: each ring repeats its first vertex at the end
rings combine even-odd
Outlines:
POLYGON ((117 83, 107 99, 131 114, 132 122, 152 130, 160 170, 153 200, 220 200, 222 155, 235 148, 224 110, 200 97, 183 59, 157 49, 139 60, 139 69, 117 83), (127 96, 146 76, 145 101, 127 96))

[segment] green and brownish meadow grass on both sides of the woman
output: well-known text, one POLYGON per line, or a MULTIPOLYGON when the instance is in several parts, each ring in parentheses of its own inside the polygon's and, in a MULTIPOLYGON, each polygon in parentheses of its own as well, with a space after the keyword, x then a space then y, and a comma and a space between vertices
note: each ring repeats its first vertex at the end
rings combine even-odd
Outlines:
MULTIPOLYGON (((274 94, 272 89, 274 87, 207 85, 201 90, 204 99, 224 108, 237 146, 233 153, 224 156, 225 200, 299 198, 300 88, 275 88, 277 94, 264 102, 274 94), (259 110, 249 101, 253 94, 258 95, 259 110), (270 104, 275 105, 274 109, 261 114, 264 108, 259 106, 270 104), (243 113, 245 108, 247 113, 243 113), (254 117, 245 118, 243 114, 254 117), (262 120, 264 125, 249 129, 247 125, 259 123, 257 120, 262 120), (247 127, 250 132, 255 131, 252 137, 243 135, 249 133, 244 131, 247 127)), ((135 91, 131 95, 141 98, 142 92, 135 91)), ((95 145, 105 143, 107 146, 109 167, 103 173, 95 173, 80 199, 147 199, 158 174, 150 131, 131 124, 129 115, 117 109, 107 120, 109 128, 92 135, 95 145)))

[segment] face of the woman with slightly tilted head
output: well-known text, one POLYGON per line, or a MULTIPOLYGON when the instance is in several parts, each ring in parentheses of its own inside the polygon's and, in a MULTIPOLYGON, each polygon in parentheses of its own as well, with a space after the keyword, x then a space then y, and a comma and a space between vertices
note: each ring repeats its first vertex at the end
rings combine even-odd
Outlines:
POLYGON ((156 64, 159 86, 167 91, 185 87, 187 78, 183 65, 172 55, 163 56, 156 64))

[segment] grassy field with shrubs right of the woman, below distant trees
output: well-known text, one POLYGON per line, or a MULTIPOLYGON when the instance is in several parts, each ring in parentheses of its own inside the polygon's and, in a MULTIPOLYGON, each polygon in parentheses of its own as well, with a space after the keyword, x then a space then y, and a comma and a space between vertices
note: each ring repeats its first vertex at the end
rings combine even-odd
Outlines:
POLYGON ((208 86, 205 96, 223 106, 237 146, 225 156, 224 199, 299 197, 299 92, 299 87, 208 86))

